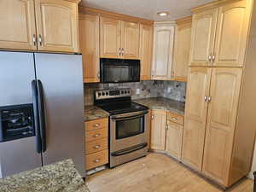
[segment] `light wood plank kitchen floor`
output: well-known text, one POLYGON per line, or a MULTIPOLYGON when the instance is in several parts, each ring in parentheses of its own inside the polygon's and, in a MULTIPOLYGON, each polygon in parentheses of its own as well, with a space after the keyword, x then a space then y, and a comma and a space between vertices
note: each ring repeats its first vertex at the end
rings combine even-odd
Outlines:
MULTIPOLYGON (((114 169, 87 178, 91 192, 219 192, 188 168, 165 154, 148 154, 114 169)), ((245 179, 230 192, 253 192, 253 181, 245 179)))

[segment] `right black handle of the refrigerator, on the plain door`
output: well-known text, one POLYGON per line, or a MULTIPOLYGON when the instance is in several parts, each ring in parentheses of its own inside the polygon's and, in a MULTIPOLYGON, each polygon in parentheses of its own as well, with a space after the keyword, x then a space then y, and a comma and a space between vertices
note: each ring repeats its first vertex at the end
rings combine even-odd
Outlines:
POLYGON ((45 114, 44 114, 44 90, 43 84, 38 79, 38 112, 39 112, 39 124, 42 139, 42 152, 46 151, 46 125, 45 125, 45 114))

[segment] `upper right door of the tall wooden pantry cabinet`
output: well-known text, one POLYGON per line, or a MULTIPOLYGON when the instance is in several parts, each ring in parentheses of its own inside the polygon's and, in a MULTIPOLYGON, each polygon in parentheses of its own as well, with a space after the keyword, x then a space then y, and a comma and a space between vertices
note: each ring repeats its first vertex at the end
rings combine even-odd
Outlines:
POLYGON ((214 66, 243 66, 251 7, 247 2, 229 3, 218 9, 214 66))

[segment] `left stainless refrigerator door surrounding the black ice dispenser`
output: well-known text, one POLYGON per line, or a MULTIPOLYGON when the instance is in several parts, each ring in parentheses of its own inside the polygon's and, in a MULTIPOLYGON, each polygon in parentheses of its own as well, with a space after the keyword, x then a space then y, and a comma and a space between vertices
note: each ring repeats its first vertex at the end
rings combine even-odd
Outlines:
MULTIPOLYGON (((0 52, 0 107, 32 103, 32 53, 0 52)), ((0 177, 41 166, 36 138, 0 143, 0 177)))

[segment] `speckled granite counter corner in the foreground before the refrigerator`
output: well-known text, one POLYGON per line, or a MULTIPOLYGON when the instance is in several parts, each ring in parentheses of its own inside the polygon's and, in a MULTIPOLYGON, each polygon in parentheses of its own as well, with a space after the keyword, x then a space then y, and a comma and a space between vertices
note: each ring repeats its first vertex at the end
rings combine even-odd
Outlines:
POLYGON ((72 160, 0 179, 1 192, 90 192, 72 160))

